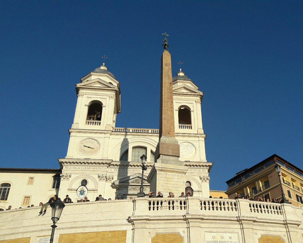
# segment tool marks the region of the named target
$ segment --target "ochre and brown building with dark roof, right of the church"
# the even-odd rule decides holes
[[[274,154],[260,163],[238,172],[233,178],[226,181],[228,198],[282,198],[281,187],[275,164],[281,165],[281,181],[286,199],[292,205],[303,207],[303,171],[287,160]]]

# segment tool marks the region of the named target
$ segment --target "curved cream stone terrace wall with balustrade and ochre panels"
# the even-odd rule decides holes
[[[0,212],[0,242],[37,242],[50,235],[51,210]],[[245,199],[135,198],[67,204],[57,223],[54,243],[300,243],[303,208]],[[115,237],[108,235],[114,234]],[[26,239],[30,238],[30,240]],[[12,241],[11,241],[12,240]],[[162,240],[162,241],[161,241]]]

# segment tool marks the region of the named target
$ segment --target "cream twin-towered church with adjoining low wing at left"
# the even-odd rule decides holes
[[[144,192],[148,194],[147,176],[155,162],[159,129],[115,127],[121,111],[120,83],[104,64],[80,81],[76,84],[78,99],[67,155],[58,159],[60,169],[1,168],[0,210],[8,205],[36,206],[53,194],[61,198],[69,195],[77,202],[81,199],[77,196],[80,185],[86,186],[90,200],[100,194],[106,199],[134,197],[140,190],[143,154],[147,157]],[[209,197],[212,163],[205,156],[203,92],[181,69],[172,81],[175,136],[180,160],[188,166],[184,191]]]

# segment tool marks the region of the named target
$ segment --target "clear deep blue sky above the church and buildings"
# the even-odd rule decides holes
[[[0,167],[58,168],[75,84],[118,79],[117,127],[158,128],[161,33],[199,90],[211,189],[276,153],[302,168],[302,1],[1,1]]]

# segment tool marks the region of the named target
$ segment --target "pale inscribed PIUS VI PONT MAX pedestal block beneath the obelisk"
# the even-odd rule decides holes
[[[147,177],[150,183],[150,191],[158,195],[161,191],[163,197],[168,197],[169,192],[173,192],[175,197],[185,192],[185,173],[188,167],[183,165],[171,165],[165,163],[155,163]]]

